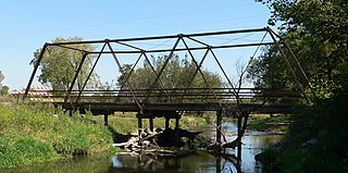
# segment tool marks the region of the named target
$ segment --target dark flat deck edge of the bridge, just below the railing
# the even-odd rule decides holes
[[[77,109],[80,113],[91,111],[92,114],[113,114],[114,112],[139,112],[140,109],[136,103],[104,103],[104,102],[79,102],[63,103],[54,102],[54,104],[62,106],[62,108],[71,110]],[[253,113],[288,113],[291,111],[289,104],[260,104],[256,103],[243,103],[241,108],[246,111]],[[217,103],[217,102],[204,102],[204,103],[147,103],[144,106],[145,111],[220,111],[222,108],[227,111],[238,111],[236,103]]]

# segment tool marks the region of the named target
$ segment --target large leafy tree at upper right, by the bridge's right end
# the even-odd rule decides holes
[[[258,1],[271,8],[270,24],[282,23],[278,27],[281,35],[297,54],[316,92],[322,97],[332,96],[341,87],[338,76],[348,64],[348,1]],[[294,85],[285,79],[287,74],[277,67],[278,62],[282,59],[275,47],[264,49],[249,73],[257,78],[256,85]]]

